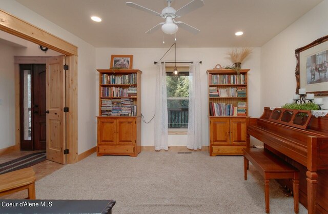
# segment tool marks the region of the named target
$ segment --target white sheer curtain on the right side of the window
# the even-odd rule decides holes
[[[201,149],[201,97],[199,63],[190,64],[189,71],[189,115],[187,148]]]

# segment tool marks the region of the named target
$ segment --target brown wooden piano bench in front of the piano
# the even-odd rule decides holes
[[[244,148],[244,179],[247,180],[249,161],[264,177],[265,212],[270,212],[269,183],[270,179],[292,179],[294,193],[294,211],[298,213],[298,184],[299,171],[289,163],[283,161],[267,149]]]

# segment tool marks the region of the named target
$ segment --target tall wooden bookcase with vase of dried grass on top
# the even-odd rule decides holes
[[[209,152],[216,155],[241,155],[249,147],[247,73],[241,69],[208,70]]]

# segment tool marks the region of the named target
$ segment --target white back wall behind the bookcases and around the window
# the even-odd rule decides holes
[[[169,47],[168,47],[169,48]],[[133,68],[142,71],[141,79],[141,113],[149,121],[155,111],[155,83],[156,65],[168,48],[96,48],[97,69],[108,69],[112,54],[133,55]],[[208,69],[213,69],[216,64],[222,66],[231,65],[226,53],[230,48],[177,48],[177,61],[202,61],[200,65],[201,78],[201,106],[202,106],[202,139],[203,145],[209,145],[209,125],[208,125]],[[163,58],[165,61],[174,61],[174,50],[170,50]],[[249,81],[249,114],[258,117],[261,115],[260,109],[260,49],[254,48],[252,55],[242,64],[242,68],[250,68]],[[99,82],[98,73],[94,71],[94,82]],[[94,96],[98,97],[98,86],[94,87]],[[96,103],[96,108],[98,103]],[[96,127],[94,127],[96,130]],[[141,145],[154,145],[154,121],[141,125]],[[169,135],[170,146],[187,145],[187,135]]]

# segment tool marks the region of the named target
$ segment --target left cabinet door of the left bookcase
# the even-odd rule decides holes
[[[98,118],[98,144],[115,145],[116,144],[116,119]]]

